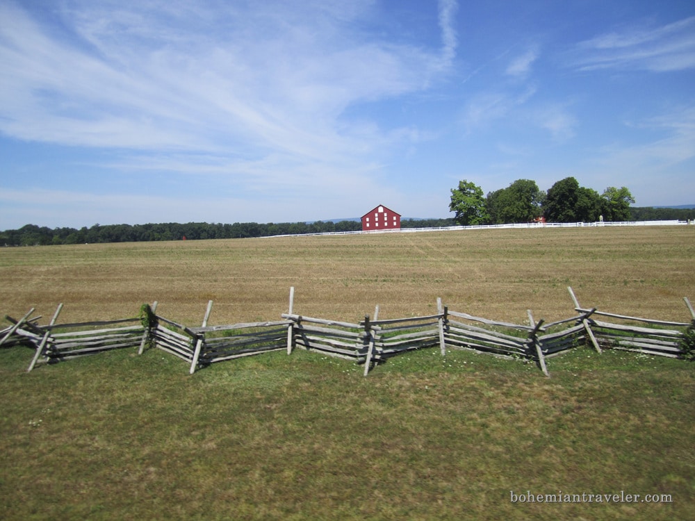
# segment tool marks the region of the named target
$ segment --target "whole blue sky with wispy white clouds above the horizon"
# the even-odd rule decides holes
[[[695,204],[695,3],[0,0],[0,229]]]

